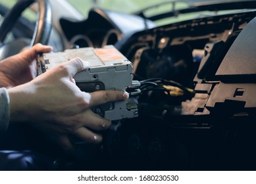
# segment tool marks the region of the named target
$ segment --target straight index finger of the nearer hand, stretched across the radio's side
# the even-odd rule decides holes
[[[90,94],[89,106],[97,106],[99,104],[105,104],[114,101],[125,101],[129,98],[129,94],[126,91],[95,91]],[[88,97],[87,97],[88,98]]]

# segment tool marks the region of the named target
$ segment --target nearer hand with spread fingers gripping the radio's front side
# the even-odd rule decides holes
[[[128,99],[123,91],[86,93],[75,85],[74,75],[86,70],[88,62],[73,58],[41,74],[24,85],[9,89],[11,122],[30,122],[32,126],[53,136],[65,150],[74,147],[69,135],[89,143],[99,143],[101,131],[111,121],[93,113],[91,107]]]

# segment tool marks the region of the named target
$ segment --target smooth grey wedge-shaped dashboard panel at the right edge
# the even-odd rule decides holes
[[[256,79],[256,18],[238,35],[222,60],[216,76],[221,80]]]

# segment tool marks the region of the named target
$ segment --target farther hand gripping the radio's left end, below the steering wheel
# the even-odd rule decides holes
[[[0,62],[0,87],[14,87],[36,77],[36,57],[39,53],[49,53],[52,47],[38,43],[17,55]]]

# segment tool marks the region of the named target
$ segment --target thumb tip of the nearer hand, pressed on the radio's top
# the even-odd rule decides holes
[[[68,70],[68,74],[70,74],[71,77],[74,77],[78,72],[88,69],[90,67],[90,62],[86,62],[85,60],[76,57],[64,62],[63,66]]]

